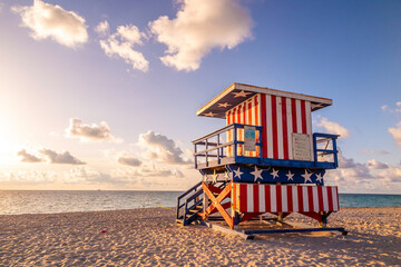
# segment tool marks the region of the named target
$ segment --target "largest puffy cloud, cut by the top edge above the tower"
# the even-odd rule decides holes
[[[160,60],[177,70],[199,68],[213,48],[232,49],[252,37],[250,11],[239,0],[182,0],[175,19],[162,16],[149,22],[157,41],[167,46]]]

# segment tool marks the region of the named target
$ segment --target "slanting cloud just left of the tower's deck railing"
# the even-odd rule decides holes
[[[184,159],[183,150],[172,139],[149,130],[139,135],[139,144],[147,149],[147,156],[160,162],[170,165],[188,165],[190,160]]]

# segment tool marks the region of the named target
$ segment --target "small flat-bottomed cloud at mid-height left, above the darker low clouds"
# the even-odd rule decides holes
[[[123,141],[110,134],[110,127],[106,121],[101,121],[99,126],[96,123],[84,125],[82,120],[78,118],[70,119],[66,135],[70,138],[79,138],[81,141]]]

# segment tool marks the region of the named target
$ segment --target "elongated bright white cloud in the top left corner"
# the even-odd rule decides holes
[[[36,40],[50,38],[66,47],[76,48],[88,41],[85,19],[60,6],[35,0],[32,6],[12,7],[21,16],[22,26],[31,29]]]

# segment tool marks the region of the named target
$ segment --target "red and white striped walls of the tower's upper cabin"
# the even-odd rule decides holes
[[[311,102],[288,97],[257,93],[228,110],[227,125],[233,122],[263,126],[263,158],[294,159],[292,134],[310,135],[312,149],[312,115]],[[238,132],[238,140],[244,140],[243,131]],[[233,139],[228,132],[227,140]],[[232,156],[231,149],[228,156]],[[242,148],[238,155],[243,155]],[[248,155],[244,155],[248,156]],[[251,157],[258,157],[251,152]],[[313,159],[311,159],[313,160]]]

